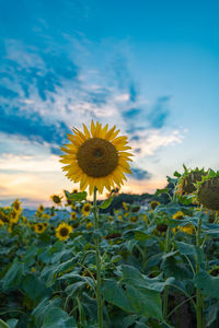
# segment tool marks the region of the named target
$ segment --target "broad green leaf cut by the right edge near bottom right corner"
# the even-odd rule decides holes
[[[219,300],[219,277],[201,271],[194,277],[194,284],[204,295]]]

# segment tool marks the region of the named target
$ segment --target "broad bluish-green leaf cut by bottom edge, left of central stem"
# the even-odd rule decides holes
[[[60,307],[51,307],[44,317],[42,328],[77,328],[76,320]]]

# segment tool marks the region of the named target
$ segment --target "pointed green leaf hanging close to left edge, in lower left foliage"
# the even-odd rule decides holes
[[[3,278],[2,290],[7,291],[20,286],[23,276],[23,263],[18,258],[13,260],[12,266]]]

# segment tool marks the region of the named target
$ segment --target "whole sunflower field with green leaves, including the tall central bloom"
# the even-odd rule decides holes
[[[61,160],[80,191],[33,213],[18,199],[0,209],[0,327],[219,327],[219,172],[184,166],[150,199],[115,207],[126,139],[91,130]]]

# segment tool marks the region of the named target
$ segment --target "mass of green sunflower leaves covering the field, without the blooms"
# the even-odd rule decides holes
[[[20,218],[11,232],[7,223],[1,225],[0,327],[97,328],[94,238],[99,237],[104,328],[174,327],[181,297],[195,327],[196,291],[203,300],[206,327],[216,328],[218,216],[215,213],[210,223],[210,214],[191,204],[188,198],[176,199],[174,188],[181,175],[174,176],[168,177],[166,187],[154,195],[120,194],[99,201],[95,232],[93,213],[81,213],[87,192],[66,191],[69,206],[76,206],[76,220],[70,219],[69,210],[54,209],[50,219],[26,215],[24,223]],[[140,206],[142,200],[148,209]],[[151,200],[160,204],[152,209]],[[173,219],[177,211],[183,212],[183,219]],[[37,222],[48,225],[42,234],[33,230]],[[57,238],[60,222],[73,227],[67,241]],[[92,223],[90,227],[88,223]],[[194,232],[186,233],[187,225]],[[163,313],[166,291],[168,316]]]

